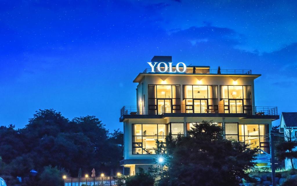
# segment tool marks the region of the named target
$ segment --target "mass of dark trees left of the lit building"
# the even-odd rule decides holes
[[[76,177],[80,168],[83,175],[93,168],[108,175],[111,169],[121,170],[122,154],[123,133],[110,133],[95,116],[69,121],[60,112],[46,109],[37,111],[23,129],[0,127],[0,177],[28,180],[29,171],[35,169],[38,179],[50,173],[61,180],[59,171]]]

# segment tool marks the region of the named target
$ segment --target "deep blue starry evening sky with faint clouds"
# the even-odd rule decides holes
[[[38,109],[122,129],[154,55],[251,69],[256,106],[297,112],[297,1],[0,1],[0,125]],[[279,120],[274,125],[279,124]]]

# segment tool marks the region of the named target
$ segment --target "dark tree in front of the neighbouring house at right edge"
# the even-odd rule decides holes
[[[287,127],[286,132],[284,132],[285,137],[280,139],[276,143],[276,157],[278,160],[283,161],[285,159],[290,159],[292,169],[296,168],[293,159],[297,158],[297,151],[294,150],[297,146],[297,138],[292,134],[292,127]]]

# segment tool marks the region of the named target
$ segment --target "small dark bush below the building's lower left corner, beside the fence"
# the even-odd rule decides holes
[[[126,186],[153,186],[155,178],[150,173],[145,172],[143,168],[139,168],[139,172],[134,176],[126,178]]]

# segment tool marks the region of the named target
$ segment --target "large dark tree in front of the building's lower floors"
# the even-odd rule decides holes
[[[248,179],[257,149],[223,139],[222,127],[203,121],[188,136],[168,138],[165,170],[159,185],[238,186]]]

